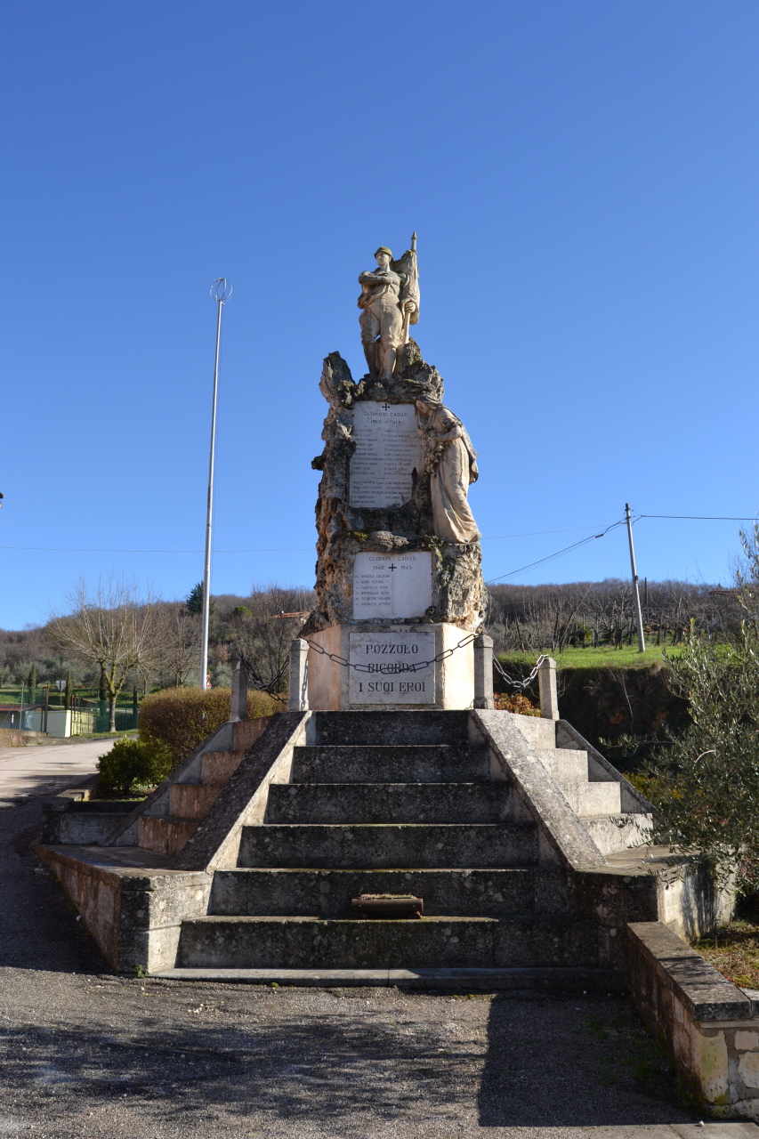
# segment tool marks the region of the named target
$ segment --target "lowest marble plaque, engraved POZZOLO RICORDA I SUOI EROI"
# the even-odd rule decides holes
[[[430,630],[398,629],[387,633],[349,633],[351,704],[434,704],[435,634]]]

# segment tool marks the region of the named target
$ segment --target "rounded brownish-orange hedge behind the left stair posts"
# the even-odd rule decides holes
[[[176,767],[229,720],[230,703],[229,688],[165,688],[153,693],[140,704],[140,743],[163,745]],[[280,711],[281,704],[267,693],[247,694],[251,720]]]

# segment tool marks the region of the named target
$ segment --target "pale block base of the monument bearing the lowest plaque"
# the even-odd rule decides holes
[[[467,636],[466,630],[452,624],[386,621],[330,625],[310,633],[309,641],[326,653],[367,667],[366,671],[346,667],[309,648],[309,708],[323,712],[471,708],[474,705],[472,642],[444,661],[425,665]]]

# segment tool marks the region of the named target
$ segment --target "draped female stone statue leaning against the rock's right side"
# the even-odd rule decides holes
[[[430,475],[432,521],[444,542],[478,542],[480,531],[466,500],[478,480],[478,452],[466,427],[433,395],[415,400],[416,427]]]

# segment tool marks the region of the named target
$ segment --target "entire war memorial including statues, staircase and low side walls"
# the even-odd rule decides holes
[[[757,994],[676,936],[729,892],[687,861],[662,875],[651,805],[561,719],[553,662],[533,715],[493,708],[476,453],[409,335],[415,241],[375,257],[368,371],[333,353],[321,374],[317,603],[287,711],[248,720],[238,664],[230,719],[161,786],[116,813],[57,796],[38,853],[119,973],[627,986],[700,1101],[756,1117]]]

